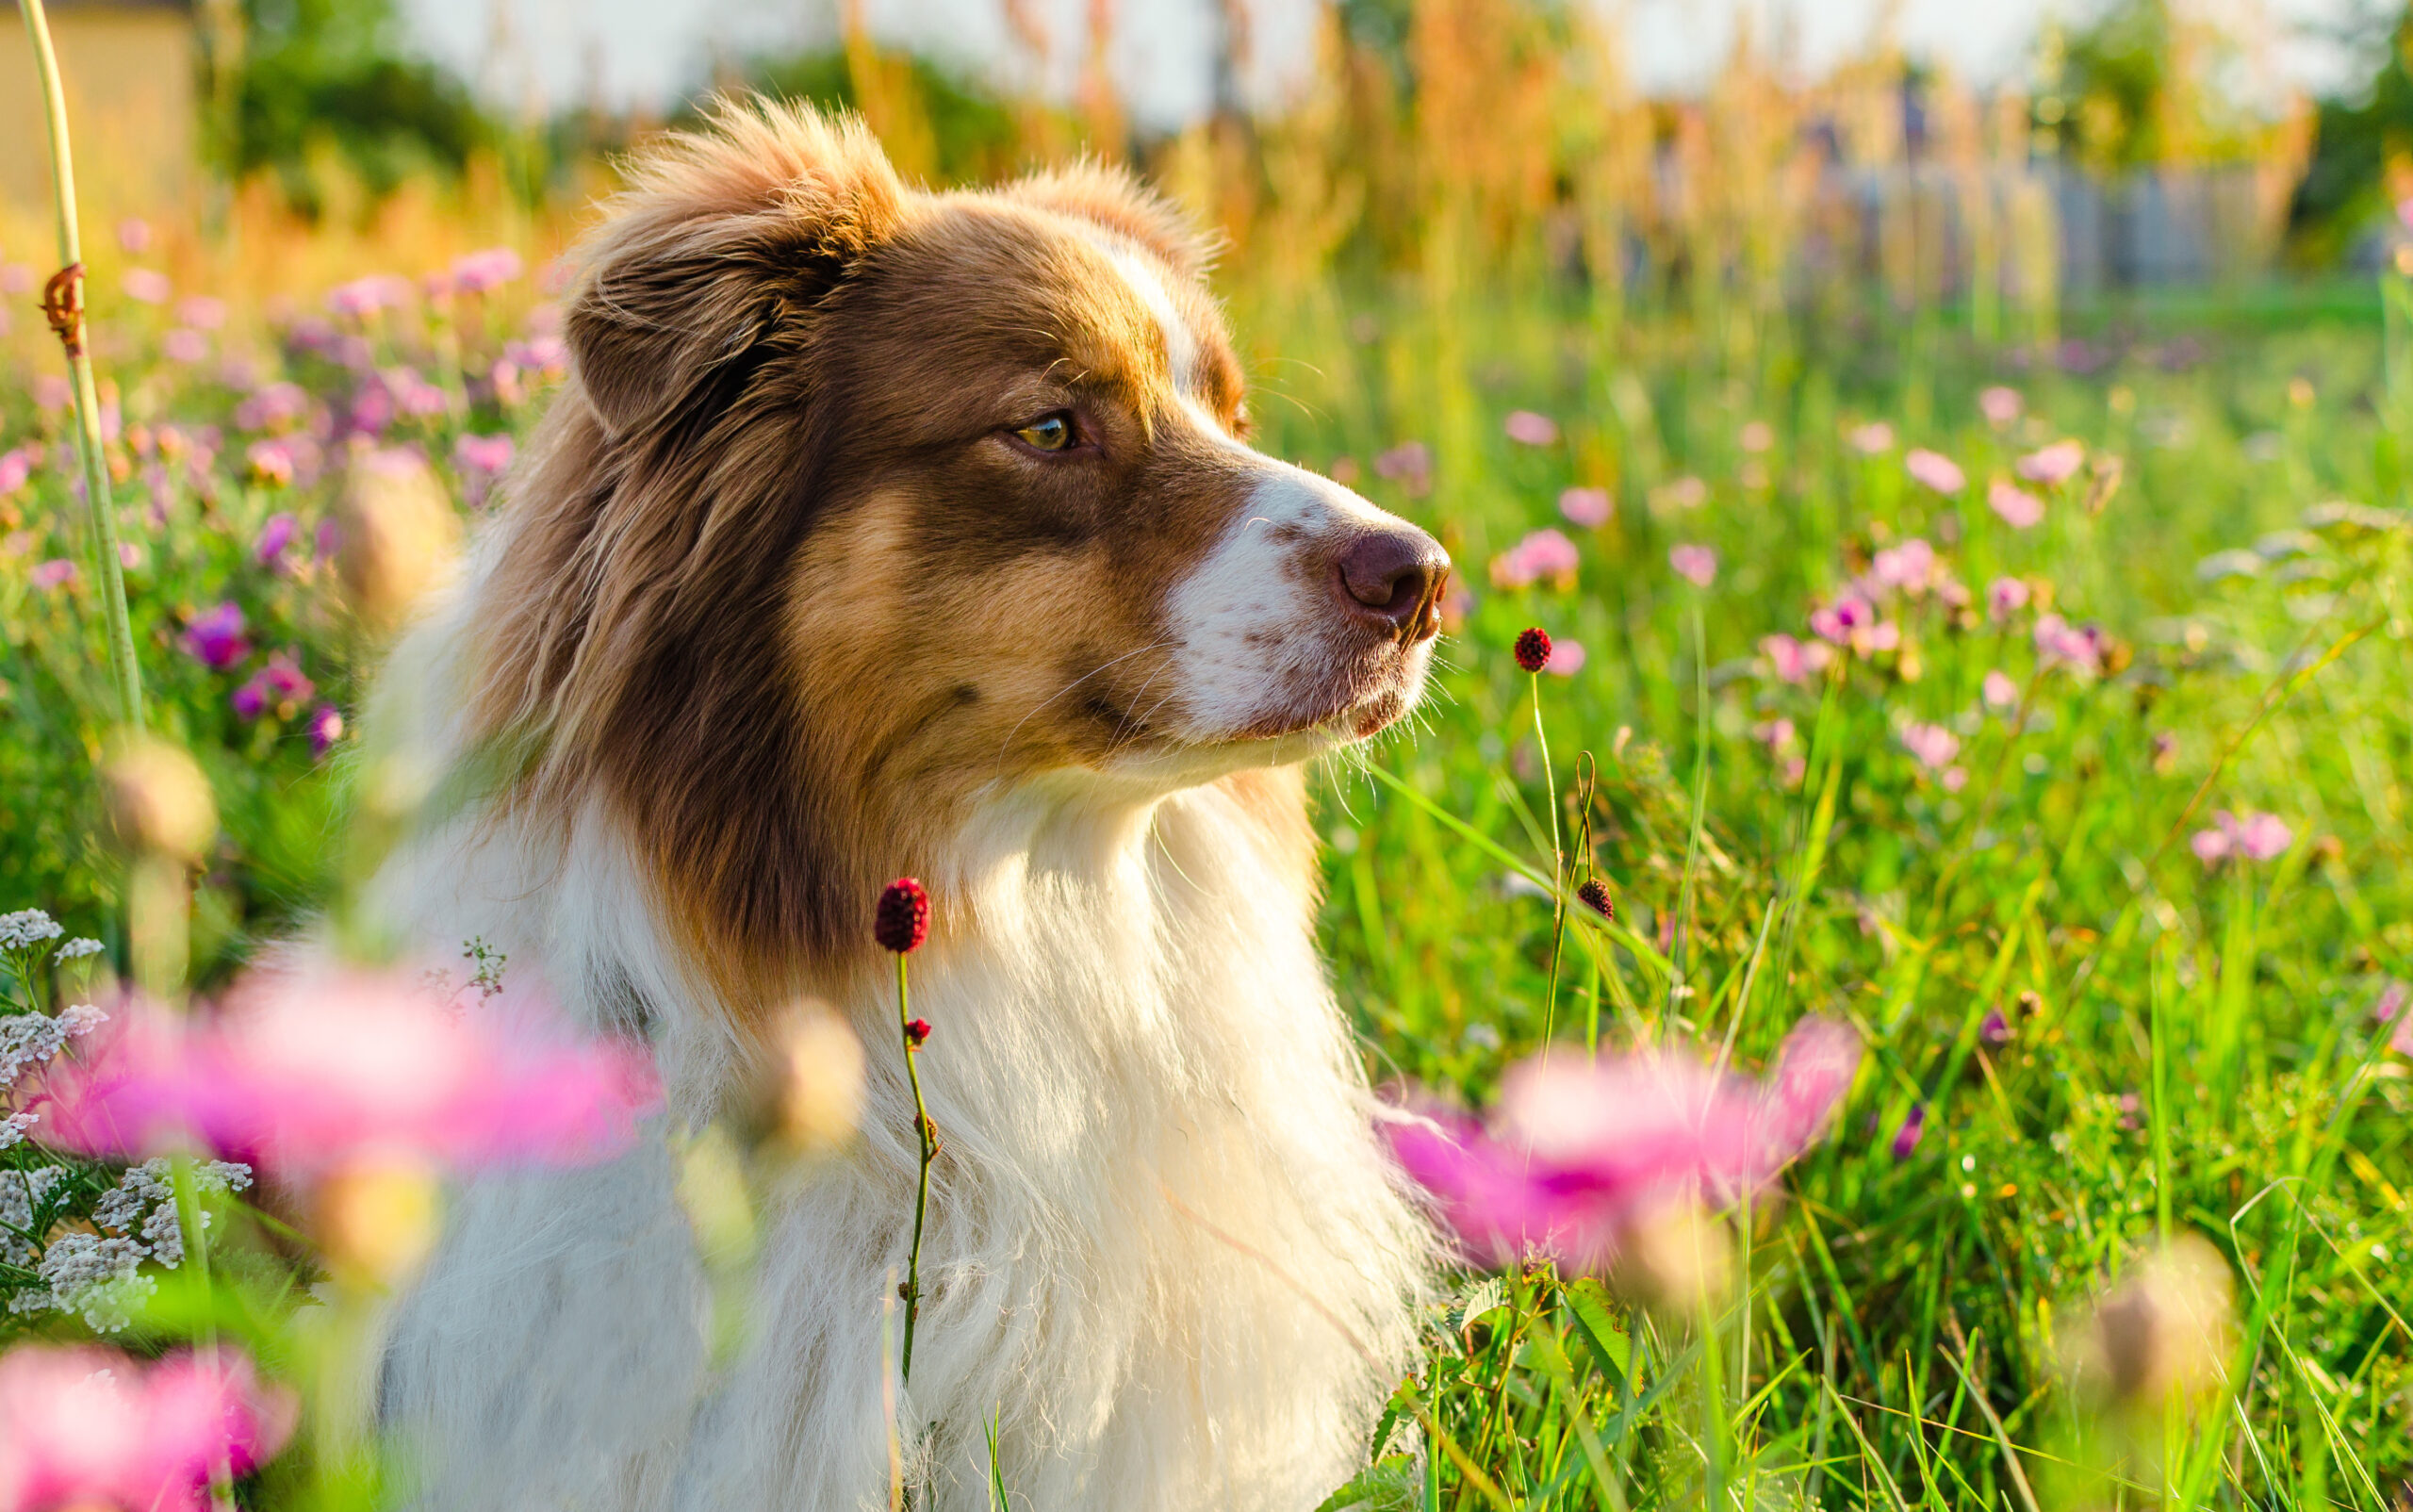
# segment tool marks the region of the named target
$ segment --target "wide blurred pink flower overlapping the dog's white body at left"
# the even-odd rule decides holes
[[[253,974],[215,1015],[133,1003],[116,1020],[51,1078],[63,1148],[138,1158],[198,1138],[302,1179],[372,1153],[584,1165],[627,1150],[661,1102],[637,1047],[569,1039],[512,994],[446,1003],[403,974]]]

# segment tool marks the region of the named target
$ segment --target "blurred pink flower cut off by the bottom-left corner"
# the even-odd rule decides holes
[[[0,1355],[0,1512],[142,1507],[198,1512],[220,1464],[244,1476],[285,1447],[294,1403],[251,1360],[157,1362],[99,1348]]]

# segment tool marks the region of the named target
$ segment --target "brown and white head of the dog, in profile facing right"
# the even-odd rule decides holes
[[[741,933],[830,943],[866,899],[820,892],[982,793],[1296,762],[1421,692],[1448,557],[1248,446],[1199,246],[1120,174],[929,195],[731,109],[639,162],[567,330],[483,709]]]

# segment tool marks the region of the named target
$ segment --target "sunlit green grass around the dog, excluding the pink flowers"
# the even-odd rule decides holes
[[[408,246],[425,268],[398,270],[437,265]],[[338,272],[372,268],[347,256]],[[2104,359],[2073,376],[1969,342],[1950,309],[1503,285],[1245,260],[1226,282],[1262,444],[1431,526],[1472,586],[1416,728],[1322,779],[1322,938],[1368,1066],[1482,1107],[1544,1035],[1757,1068],[1805,1013],[1853,1022],[1868,1061],[1781,1199],[1728,1220],[1740,1280],[1711,1302],[1641,1307],[1547,1264],[1455,1278],[1368,1471],[1330,1505],[2403,1505],[2413,1097],[2372,1010],[2413,979],[2413,540],[2386,514],[2413,444],[2406,287],[2073,318]],[[480,381],[533,304],[521,282],[338,335],[379,367],[471,374],[391,432],[466,487],[456,436],[541,408]],[[215,362],[162,354],[166,309],[94,311],[154,728],[198,752],[224,815],[195,914],[195,962],[222,974],[340,875],[347,769],[311,757],[302,721],[352,707],[362,654],[306,547],[287,572],[253,557],[280,511],[306,540],[331,485],[309,465],[292,487],[246,475],[241,393]],[[360,388],[294,333],[236,299],[212,342],[316,405]],[[46,461],[0,499],[0,907],[39,902],[118,945],[116,873],[89,839],[111,707],[92,572],[70,588],[29,572],[87,557],[63,420],[31,393],[55,354],[12,340],[0,449]],[[2025,415],[1988,424],[1986,383],[2017,386]],[[1559,441],[1511,441],[1515,408],[1552,415]],[[1880,420],[1897,441],[1856,451]],[[2087,509],[2082,473],[2010,528],[1988,485],[2061,436],[2121,458],[2116,492]],[[1431,449],[1428,485],[1375,468],[1404,441]],[[1914,482],[1906,446],[1952,456],[1969,490]],[[1609,523],[1559,518],[1573,485],[1614,494]],[[2379,514],[2319,514],[2336,499]],[[1489,562],[1544,526],[1573,535],[1573,581],[1491,586]],[[1761,637],[1807,637],[1815,603],[1911,538],[1974,613],[1904,603],[1899,649],[1774,678]],[[1679,543],[1718,552],[1711,586],[1670,569]],[[1998,576],[2037,596],[2010,625],[1986,615]],[[2104,629],[2104,675],[2039,666],[2046,596]],[[256,651],[210,670],[179,637],[227,600]],[[1535,685],[1508,651],[1527,625],[1578,641],[1583,668]],[[244,719],[229,697],[273,646],[319,692]],[[1996,670],[2008,709],[1983,699]],[[1776,721],[1793,743],[1771,748]],[[1906,750],[1909,721],[1959,740],[1957,779]],[[2215,810],[2273,813],[2292,844],[2205,866],[2191,839]],[[1556,948],[1554,849],[1617,899],[1614,924],[1566,909]],[[2008,1037],[1986,1035],[1991,1010]],[[2094,1300],[2179,1235],[2232,1278],[2225,1384],[2121,1408],[2087,1360]],[[328,1464],[328,1483],[357,1473]]]

